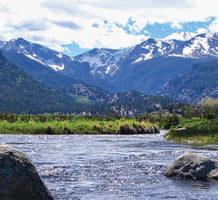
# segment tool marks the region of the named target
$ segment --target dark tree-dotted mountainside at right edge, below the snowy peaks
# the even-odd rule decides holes
[[[218,60],[193,65],[166,83],[159,94],[189,103],[197,103],[206,96],[218,98]]]

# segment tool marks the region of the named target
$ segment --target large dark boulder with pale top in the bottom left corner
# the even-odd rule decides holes
[[[0,199],[54,200],[31,160],[22,152],[0,143]]]

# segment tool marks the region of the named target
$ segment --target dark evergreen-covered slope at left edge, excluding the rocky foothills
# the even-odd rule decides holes
[[[74,98],[34,80],[0,53],[0,112],[67,112],[73,111],[76,103]]]

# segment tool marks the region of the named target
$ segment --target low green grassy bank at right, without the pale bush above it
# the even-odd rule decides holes
[[[209,119],[181,118],[179,128],[172,128],[166,134],[167,140],[191,145],[218,145],[218,121]]]

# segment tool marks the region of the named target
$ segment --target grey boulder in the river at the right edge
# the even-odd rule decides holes
[[[178,157],[167,169],[165,176],[176,179],[218,180],[218,161],[188,153]]]

